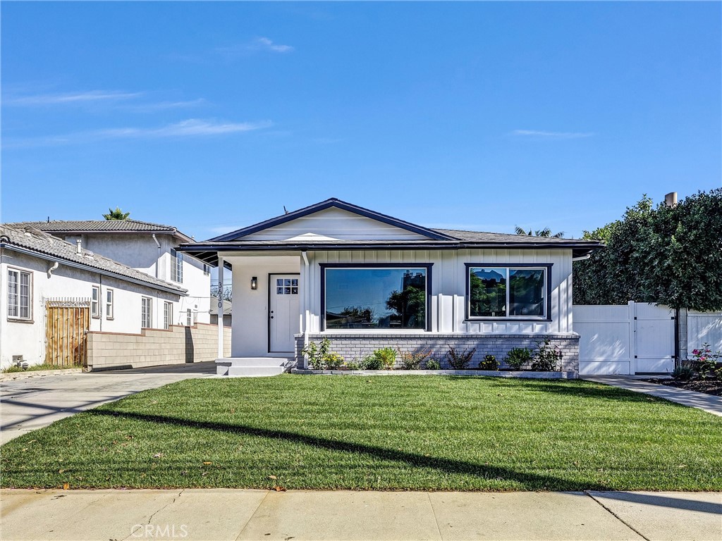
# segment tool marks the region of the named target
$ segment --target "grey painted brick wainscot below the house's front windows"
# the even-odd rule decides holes
[[[323,338],[331,340],[331,351],[338,353],[345,361],[360,361],[378,348],[394,348],[399,351],[431,351],[429,359],[439,361],[442,369],[451,369],[445,359],[449,346],[457,351],[469,351],[476,348],[469,363],[477,368],[479,361],[486,355],[496,356],[499,364],[505,368],[504,358],[512,348],[529,348],[534,353],[536,342],[549,338],[551,346],[559,346],[562,351],[562,370],[579,371],[579,335],[576,334],[310,334],[308,339],[320,343]],[[296,364],[303,367],[303,335],[296,335]]]

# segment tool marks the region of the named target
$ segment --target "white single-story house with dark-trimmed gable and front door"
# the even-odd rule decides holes
[[[376,348],[449,346],[502,360],[547,337],[578,369],[572,261],[600,243],[430,229],[331,198],[205,242],[182,244],[232,268],[233,358],[305,363],[329,338],[347,361]]]

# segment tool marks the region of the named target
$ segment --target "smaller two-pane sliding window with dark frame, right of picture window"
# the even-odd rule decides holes
[[[551,264],[466,264],[469,319],[549,319]]]

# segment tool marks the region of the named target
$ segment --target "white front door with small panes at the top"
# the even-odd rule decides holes
[[[269,353],[293,351],[300,333],[297,274],[271,274],[269,279]]]

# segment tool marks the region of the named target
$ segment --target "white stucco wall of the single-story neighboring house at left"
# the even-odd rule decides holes
[[[12,356],[22,355],[30,364],[45,361],[45,301],[65,297],[92,298],[92,286],[100,286],[100,317],[90,317],[90,330],[112,333],[139,333],[141,298],[153,299],[153,327],[163,327],[163,302],[173,302],[174,313],[181,307],[181,297],[119,278],[102,276],[93,271],[72,268],[60,263],[48,277],[53,262],[12,250],[0,254],[0,367],[12,364]],[[7,317],[8,268],[32,273],[31,320]],[[105,292],[113,289],[113,319],[105,317]]]

